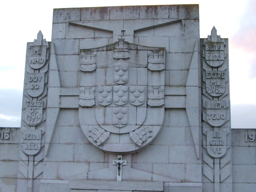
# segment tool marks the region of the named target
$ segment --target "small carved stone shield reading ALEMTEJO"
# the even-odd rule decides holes
[[[206,101],[206,119],[207,122],[214,126],[222,126],[226,122],[226,108],[225,100]]]

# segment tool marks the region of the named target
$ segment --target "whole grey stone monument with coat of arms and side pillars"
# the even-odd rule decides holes
[[[21,127],[0,128],[0,191],[254,192],[255,130],[231,130],[228,39],[209,34],[198,5],[54,9]]]

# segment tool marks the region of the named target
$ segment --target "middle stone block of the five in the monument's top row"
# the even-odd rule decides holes
[[[110,19],[138,19],[140,16],[139,6],[130,7],[111,7]]]

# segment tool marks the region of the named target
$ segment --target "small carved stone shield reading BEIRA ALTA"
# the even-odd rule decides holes
[[[27,155],[35,155],[41,148],[41,130],[23,130],[22,147]]]

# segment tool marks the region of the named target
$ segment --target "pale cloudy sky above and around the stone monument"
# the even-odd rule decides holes
[[[24,0],[0,3],[0,127],[20,127],[26,44],[39,30],[51,41],[54,8],[154,5],[152,0]],[[229,39],[232,128],[256,128],[256,0],[162,0],[157,4],[199,4],[200,38],[212,27]]]

